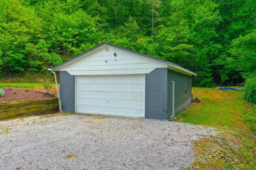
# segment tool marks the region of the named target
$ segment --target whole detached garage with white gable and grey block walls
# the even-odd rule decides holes
[[[191,105],[191,72],[109,43],[52,68],[60,71],[62,110],[172,119]]]

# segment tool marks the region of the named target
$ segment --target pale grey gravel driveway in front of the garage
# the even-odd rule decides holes
[[[41,115],[0,121],[1,170],[180,170],[188,141],[211,127],[102,115]]]

